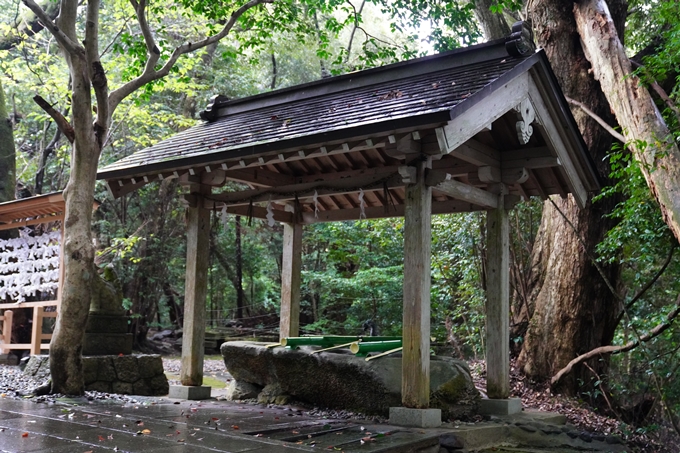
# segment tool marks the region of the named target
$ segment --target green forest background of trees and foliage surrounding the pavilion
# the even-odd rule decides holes
[[[634,62],[636,83],[654,94],[676,141],[680,7],[674,0],[606,3]],[[99,57],[112,87],[144,71],[147,48],[130,6],[139,4],[112,1],[99,8]],[[13,197],[15,180],[19,195],[62,190],[71,175],[69,137],[34,97],[69,118],[68,67],[54,36],[41,32],[40,21],[20,2],[0,0],[0,5],[0,83],[6,95],[0,109],[7,108],[0,117],[9,119],[0,125],[9,129],[0,129],[5,134],[0,199]],[[55,18],[59,5],[42,6]],[[680,331],[672,322],[680,292],[677,239],[650,192],[648,169],[628,150],[646,144],[638,139],[630,146],[632,139],[621,137],[627,131],[618,128],[613,107],[593,79],[572,2],[290,0],[276,5],[242,16],[226,38],[183,55],[168,76],[122,100],[100,166],[197,124],[198,112],[215,94],[239,98],[449,50],[505,36],[514,20],[532,20],[536,41],[546,48],[565,94],[576,100],[574,115],[606,187],[584,210],[557,198],[531,200],[512,211],[513,354],[529,377],[549,381],[580,354],[630,345],[626,353],[588,357],[555,380],[555,390],[588,400],[631,429],[658,428],[633,415],[651,408],[652,420],[678,431]],[[218,30],[231,14],[229,5],[188,0],[154,1],[145,8],[165,57],[206,27]],[[85,8],[77,14],[86,14]],[[619,132],[595,123],[583,107]],[[150,328],[181,327],[182,188],[166,180],[115,201],[103,184],[95,190],[102,201],[92,224],[95,260],[117,271],[131,332],[136,346],[144,348]],[[457,355],[483,358],[485,216],[435,216],[432,222],[432,336],[454,345]],[[363,321],[372,319],[383,334],[400,334],[402,228],[402,219],[305,227],[305,333],[357,334]],[[257,219],[231,216],[223,223],[214,216],[210,326],[232,320],[260,329],[278,325],[281,231]],[[640,341],[645,335],[652,338]]]

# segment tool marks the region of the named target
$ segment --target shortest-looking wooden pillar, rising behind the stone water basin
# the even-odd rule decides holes
[[[281,323],[279,338],[300,335],[300,283],[302,281],[302,225],[283,224],[281,260]]]

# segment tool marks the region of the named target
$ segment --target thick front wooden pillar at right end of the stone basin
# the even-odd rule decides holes
[[[432,189],[425,185],[430,159],[416,165],[406,185],[404,212],[404,322],[401,401],[430,405],[430,248]]]

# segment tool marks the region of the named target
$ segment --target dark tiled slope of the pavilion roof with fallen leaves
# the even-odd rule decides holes
[[[477,52],[484,52],[483,46]],[[487,46],[489,47],[489,46]],[[455,58],[451,67],[441,69],[440,56],[395,65],[393,78],[389,67],[380,68],[382,76],[369,81],[361,80],[362,73],[341,76],[338,83],[344,88],[315,95],[305,85],[246,98],[219,106],[218,118],[180,132],[154,146],[138,151],[110,164],[99,171],[100,179],[152,174],[193,164],[221,162],[231,158],[261,155],[340,139],[344,131],[370,127],[381,132],[396,129],[395,124],[408,120],[418,126],[445,122],[450,110],[473,97],[485,86],[512,70],[523,58],[514,58],[491,52],[491,59],[465,64]],[[454,57],[461,60],[457,52]],[[500,54],[502,55],[502,54]],[[488,57],[487,57],[488,58]],[[473,60],[474,61],[474,60]],[[420,68],[413,70],[420,65]],[[430,67],[436,70],[429,70]],[[406,74],[406,76],[404,76]],[[387,80],[385,80],[387,79]],[[356,80],[356,83],[354,82]],[[332,79],[313,83],[316,88],[331,85]],[[354,86],[356,85],[356,86]],[[313,91],[313,90],[312,90]],[[317,90],[318,91],[318,90]],[[300,95],[302,93],[302,95]],[[267,102],[267,97],[272,99]],[[302,97],[302,99],[300,99]],[[250,105],[256,105],[249,109]],[[293,100],[289,100],[293,99]],[[236,104],[229,113],[229,104]],[[355,131],[353,131],[355,132]],[[347,134],[348,137],[356,135]],[[317,139],[315,139],[317,138]]]

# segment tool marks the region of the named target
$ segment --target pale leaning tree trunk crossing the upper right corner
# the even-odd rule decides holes
[[[680,150],[649,91],[630,76],[630,60],[607,3],[603,0],[574,3],[574,16],[593,75],[631,142],[633,155],[659,202],[664,221],[680,240]]]

